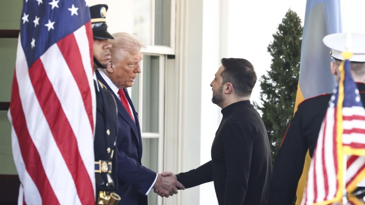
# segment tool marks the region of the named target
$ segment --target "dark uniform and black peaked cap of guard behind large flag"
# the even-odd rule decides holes
[[[90,7],[94,39],[113,39],[107,31],[105,15],[108,6],[98,4]],[[94,57],[96,68],[105,68]],[[96,69],[94,68],[94,69]],[[115,205],[120,197],[116,194],[118,180],[116,172],[116,138],[118,136],[118,118],[116,102],[105,85],[96,80],[96,125],[94,139],[96,204]]]

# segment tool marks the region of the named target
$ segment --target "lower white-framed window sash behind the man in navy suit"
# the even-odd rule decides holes
[[[163,169],[164,148],[164,65],[165,55],[143,55],[142,72],[131,88],[131,98],[138,111],[142,131],[142,165],[160,173]],[[148,194],[150,205],[162,205],[162,198]]]

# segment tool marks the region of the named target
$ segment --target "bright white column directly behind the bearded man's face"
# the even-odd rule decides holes
[[[221,18],[221,0],[203,1],[203,49],[201,66],[201,130],[200,130],[200,165],[211,160],[211,146],[219,126],[221,114],[218,105],[212,103],[211,81],[218,70],[221,59],[221,36],[226,33]],[[226,3],[227,1],[224,1]],[[223,6],[224,8],[224,6]],[[223,28],[223,30],[222,30]],[[200,204],[218,204],[213,182],[200,185]]]

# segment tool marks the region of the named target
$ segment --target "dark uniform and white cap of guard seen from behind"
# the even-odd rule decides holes
[[[341,52],[346,50],[346,34],[327,35],[323,42],[332,49],[331,54],[334,59],[343,60]],[[350,59],[351,63],[365,63],[365,34],[353,35],[353,42],[355,52],[351,51],[354,53]],[[365,102],[364,82],[357,82],[357,87],[362,102]],[[330,98],[331,94],[322,94],[299,104],[275,158],[268,205],[292,204],[303,172],[307,150],[312,157]],[[364,190],[365,187],[362,186],[365,185],[358,184],[358,190]]]

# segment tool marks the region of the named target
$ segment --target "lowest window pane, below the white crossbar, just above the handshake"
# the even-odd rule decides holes
[[[142,138],[142,165],[158,173],[158,138]],[[149,205],[157,205],[158,195],[150,191],[147,195]]]

